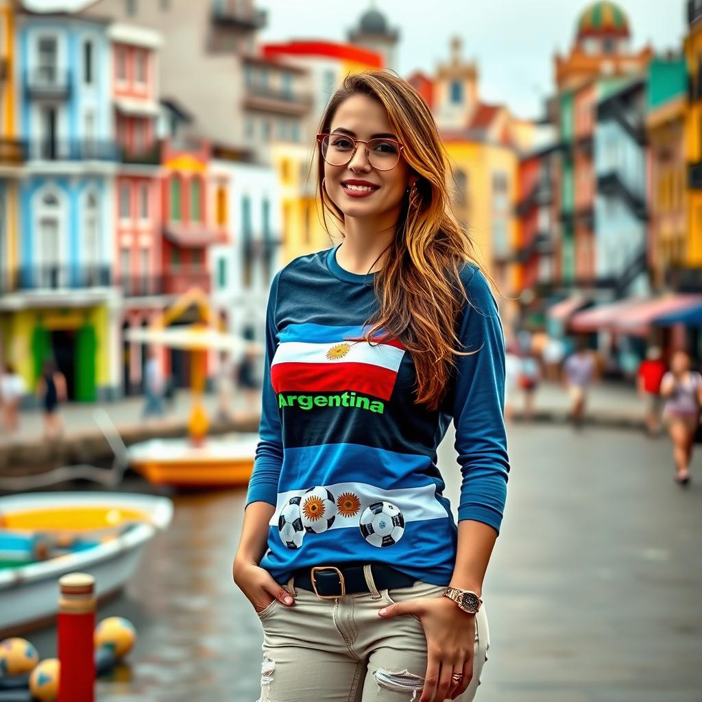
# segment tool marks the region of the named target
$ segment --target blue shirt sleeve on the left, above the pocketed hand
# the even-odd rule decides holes
[[[278,298],[277,272],[270,286],[266,309],[265,362],[263,366],[263,388],[261,395],[261,418],[258,425],[258,446],[253,461],[253,472],[246,493],[246,505],[263,501],[275,505],[278,496],[278,479],[283,464],[283,439],[280,413],[273,386],[270,383],[270,364],[278,345],[275,324],[275,309]]]

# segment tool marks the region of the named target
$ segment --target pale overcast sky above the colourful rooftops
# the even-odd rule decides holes
[[[687,27],[684,0],[617,0],[629,18],[632,48],[651,44],[656,51],[682,48]],[[541,117],[552,94],[553,56],[566,53],[576,22],[588,0],[375,0],[399,29],[397,72],[432,73],[449,56],[454,34],[463,39],[463,57],[479,69],[479,95],[507,105],[517,116]],[[371,0],[256,0],[267,10],[260,40],[327,39],[347,41]],[[423,11],[425,6],[431,12]]]

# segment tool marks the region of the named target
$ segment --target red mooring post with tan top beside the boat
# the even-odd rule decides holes
[[[57,702],[93,702],[95,698],[95,578],[69,573],[58,581],[58,658],[61,662]]]

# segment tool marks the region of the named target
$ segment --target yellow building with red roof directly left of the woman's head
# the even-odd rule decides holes
[[[282,186],[282,263],[305,253],[327,249],[329,234],[322,225],[317,194],[317,141],[315,135],[329,98],[348,74],[383,67],[380,54],[357,46],[331,41],[291,41],[267,44],[270,58],[304,67],[312,82],[312,110],[300,143],[278,143],[272,149],[273,162]],[[327,217],[334,235],[336,220]]]

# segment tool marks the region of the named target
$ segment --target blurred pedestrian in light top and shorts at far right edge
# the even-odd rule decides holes
[[[670,361],[670,371],[661,380],[661,395],[665,398],[663,417],[673,441],[675,482],[690,482],[690,460],[695,432],[702,407],[702,376],[690,369],[690,357],[676,351]]]

